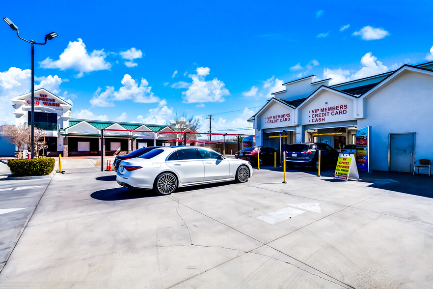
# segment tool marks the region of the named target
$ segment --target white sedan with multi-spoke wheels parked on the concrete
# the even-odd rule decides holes
[[[251,175],[247,161],[228,159],[199,146],[167,146],[122,161],[116,180],[129,189],[154,189],[169,195],[184,186],[230,180],[243,183]]]

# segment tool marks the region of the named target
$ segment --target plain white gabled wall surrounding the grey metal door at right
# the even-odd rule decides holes
[[[373,170],[388,170],[388,134],[415,134],[415,159],[433,159],[433,77],[414,72],[397,76],[392,83],[366,96],[365,118],[358,129],[372,126]]]

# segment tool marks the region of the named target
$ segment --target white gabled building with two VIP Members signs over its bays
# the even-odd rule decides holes
[[[284,83],[248,119],[257,145],[278,148],[281,136],[283,149],[300,142],[338,149],[369,128],[371,170],[411,172],[415,160],[433,159],[433,61],[332,86],[314,80]]]

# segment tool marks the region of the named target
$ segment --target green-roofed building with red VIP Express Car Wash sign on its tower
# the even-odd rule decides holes
[[[35,90],[34,100],[34,126],[44,130],[48,156],[100,156],[101,152],[122,155],[145,146],[178,145],[183,132],[189,131],[186,128],[180,132],[175,126],[158,124],[71,118],[72,103],[44,88]],[[31,94],[13,98],[12,102],[15,125],[31,125]],[[104,140],[101,143],[102,129]],[[196,139],[197,135],[189,137],[190,141]]]

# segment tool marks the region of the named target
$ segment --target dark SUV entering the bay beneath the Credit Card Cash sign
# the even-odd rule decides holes
[[[309,166],[319,169],[319,150],[321,165],[335,165],[339,152],[325,143],[300,143],[286,147],[286,165]]]

